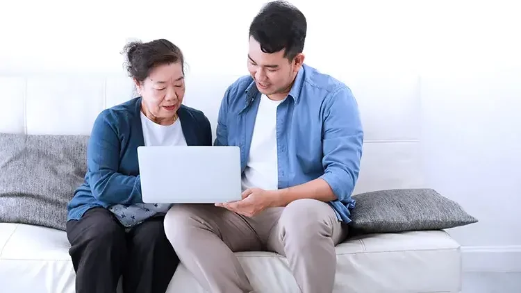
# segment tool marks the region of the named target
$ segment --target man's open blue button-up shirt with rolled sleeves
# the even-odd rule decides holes
[[[240,147],[242,171],[260,99],[253,78],[243,76],[228,87],[221,102],[214,144]],[[363,144],[358,105],[349,87],[304,65],[276,115],[279,188],[322,178],[337,197],[329,204],[338,219],[349,223]]]

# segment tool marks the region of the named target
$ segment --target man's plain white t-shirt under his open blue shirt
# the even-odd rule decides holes
[[[276,152],[276,109],[283,102],[272,101],[264,94],[258,105],[254,133],[244,173],[242,190],[258,187],[279,189],[279,164]]]

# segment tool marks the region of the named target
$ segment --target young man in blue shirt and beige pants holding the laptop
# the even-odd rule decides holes
[[[165,231],[208,292],[253,292],[235,251],[288,258],[304,293],[331,292],[363,130],[349,88],[304,65],[306,18],[268,3],[249,28],[248,69],[226,91],[217,146],[239,146],[242,201],[176,205]]]

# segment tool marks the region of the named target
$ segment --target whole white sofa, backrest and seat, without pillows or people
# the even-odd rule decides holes
[[[187,76],[185,103],[215,131],[217,109],[236,76]],[[418,76],[345,77],[361,108],[365,146],[355,193],[425,187]],[[104,108],[133,97],[126,76],[0,76],[0,133],[88,135]],[[0,146],[2,147],[2,146]],[[65,217],[65,216],[64,216]],[[74,292],[64,231],[0,223],[0,292]],[[286,259],[237,253],[258,292],[298,292]],[[461,251],[445,231],[349,237],[337,247],[334,292],[461,292]],[[168,293],[204,292],[181,264]]]

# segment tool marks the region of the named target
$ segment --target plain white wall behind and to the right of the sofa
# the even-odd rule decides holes
[[[165,37],[185,53],[188,84],[242,75],[264,1],[76,2],[2,1],[0,74],[118,74],[126,40]],[[509,2],[474,2],[292,1],[310,65],[346,82],[420,76],[424,183],[480,220],[450,231],[465,268],[521,270],[521,20]]]

